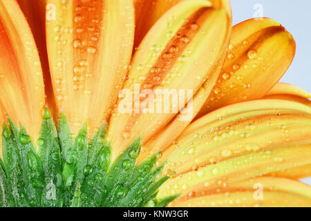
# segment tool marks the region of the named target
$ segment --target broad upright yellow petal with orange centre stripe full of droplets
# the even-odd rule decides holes
[[[48,59],[58,111],[74,134],[88,122],[89,138],[106,120],[122,88],[131,59],[133,2],[58,1],[46,18]]]

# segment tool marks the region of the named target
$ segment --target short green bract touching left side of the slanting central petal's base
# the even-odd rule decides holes
[[[87,165],[84,168],[85,179],[82,183],[82,206],[98,207],[102,205],[105,195],[106,174],[111,161],[110,144],[106,144],[104,148],[97,154],[97,160],[93,166]]]

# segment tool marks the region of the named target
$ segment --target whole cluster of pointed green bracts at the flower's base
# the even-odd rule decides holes
[[[73,140],[65,115],[57,132],[44,110],[35,151],[26,129],[9,119],[3,124],[0,158],[0,206],[166,206],[178,197],[156,199],[169,177],[159,177],[159,154],[136,164],[138,137],[111,162],[111,147],[102,124],[88,143],[84,124]]]

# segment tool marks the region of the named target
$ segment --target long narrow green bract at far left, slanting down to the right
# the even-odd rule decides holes
[[[10,183],[15,206],[30,206],[21,174],[21,167],[19,165],[17,144],[6,124],[3,124],[2,129],[2,153],[4,168],[8,177],[8,182]]]

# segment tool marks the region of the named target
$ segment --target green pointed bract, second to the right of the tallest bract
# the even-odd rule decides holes
[[[65,206],[70,206],[77,182],[84,179],[84,167],[88,160],[88,133],[84,124],[80,129],[72,146],[66,152],[66,159],[63,164],[63,183],[65,189]]]

